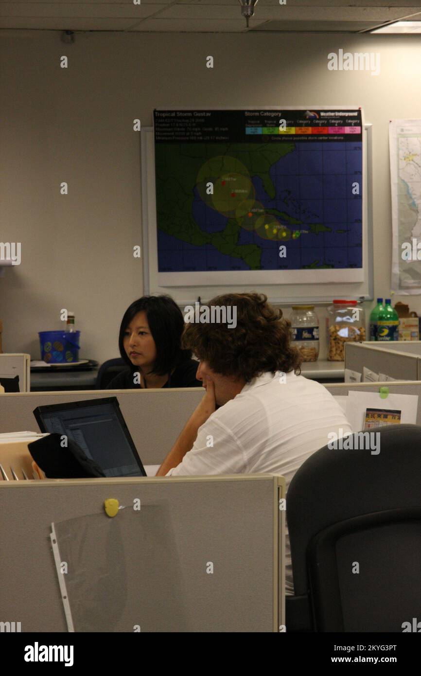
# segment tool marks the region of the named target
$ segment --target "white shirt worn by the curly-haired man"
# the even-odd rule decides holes
[[[166,476],[275,473],[288,490],[299,466],[332,432],[343,436],[351,427],[323,385],[292,371],[286,377],[266,372],[209,416],[192,450]],[[288,533],[285,553],[286,593],[293,594]]]

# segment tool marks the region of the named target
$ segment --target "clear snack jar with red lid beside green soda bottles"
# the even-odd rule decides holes
[[[328,316],[328,360],[345,360],[345,343],[366,340],[366,319],[364,310],[357,307],[356,300],[334,300],[327,308]]]

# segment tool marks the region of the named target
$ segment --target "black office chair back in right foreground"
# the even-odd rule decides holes
[[[371,432],[379,454],[325,446],[289,485],[287,631],[401,632],[421,621],[421,427]]]

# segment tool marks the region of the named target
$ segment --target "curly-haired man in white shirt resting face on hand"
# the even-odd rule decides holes
[[[199,359],[196,378],[206,393],[157,476],[278,473],[288,490],[329,433],[351,432],[349,422],[323,385],[299,375],[291,324],[266,295],[228,293],[208,306],[207,317],[220,316],[212,308],[235,309],[237,324],[199,319],[184,328],[182,347]],[[286,566],[293,594],[288,536]]]

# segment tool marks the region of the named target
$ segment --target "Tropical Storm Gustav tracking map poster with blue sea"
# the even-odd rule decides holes
[[[154,122],[159,272],[362,268],[361,111]]]

